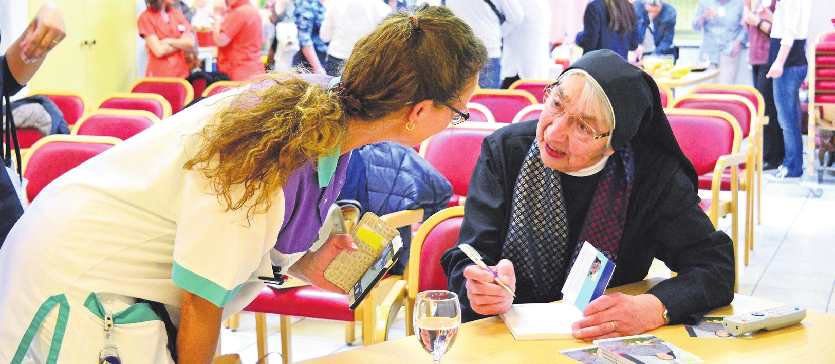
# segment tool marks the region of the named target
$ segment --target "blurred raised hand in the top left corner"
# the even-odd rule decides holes
[[[54,3],[44,3],[23,33],[23,41],[20,43],[20,47],[23,48],[21,58],[26,63],[43,58],[66,35],[61,9]]]

